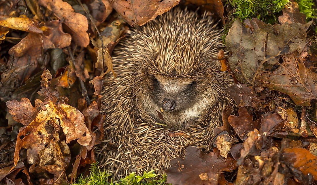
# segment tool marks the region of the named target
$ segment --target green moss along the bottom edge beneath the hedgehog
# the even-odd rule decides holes
[[[83,177],[82,175],[77,179],[76,183],[72,185],[165,185],[166,175],[161,175],[157,180],[158,175],[154,173],[154,170],[144,172],[143,175],[136,175],[131,173],[119,182],[114,183],[113,179],[110,179],[111,174],[107,171],[101,171],[97,166],[97,163],[93,163],[90,167],[90,175]]]

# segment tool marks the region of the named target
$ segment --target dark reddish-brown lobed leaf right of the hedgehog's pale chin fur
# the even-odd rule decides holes
[[[238,113],[239,116],[230,115],[228,121],[240,139],[244,141],[250,131],[260,128],[261,119],[253,121],[252,116],[249,115],[245,107],[240,107]]]

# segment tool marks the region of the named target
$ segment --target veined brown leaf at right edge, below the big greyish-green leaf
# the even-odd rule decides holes
[[[307,69],[301,59],[293,54],[282,56],[283,63],[274,71],[259,73],[258,84],[271,90],[288,94],[296,105],[310,105],[311,99],[317,99],[317,73]]]

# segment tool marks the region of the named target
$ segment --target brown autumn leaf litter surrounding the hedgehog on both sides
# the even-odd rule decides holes
[[[231,20],[217,0],[0,1],[0,184],[66,184],[87,174],[104,136],[101,92],[104,76],[116,76],[113,49],[129,26],[178,3]],[[168,183],[317,182],[316,24],[294,1],[277,21],[232,21],[229,54],[218,59],[236,82],[227,93],[237,107],[225,108],[212,152],[188,147],[171,161]]]

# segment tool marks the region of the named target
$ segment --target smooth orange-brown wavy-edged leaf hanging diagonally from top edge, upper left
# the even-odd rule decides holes
[[[70,4],[62,0],[39,0],[39,4],[52,11],[59,20],[63,20],[63,23],[68,27],[68,30],[65,31],[69,31],[79,46],[87,47],[89,36],[86,16],[75,13]]]

